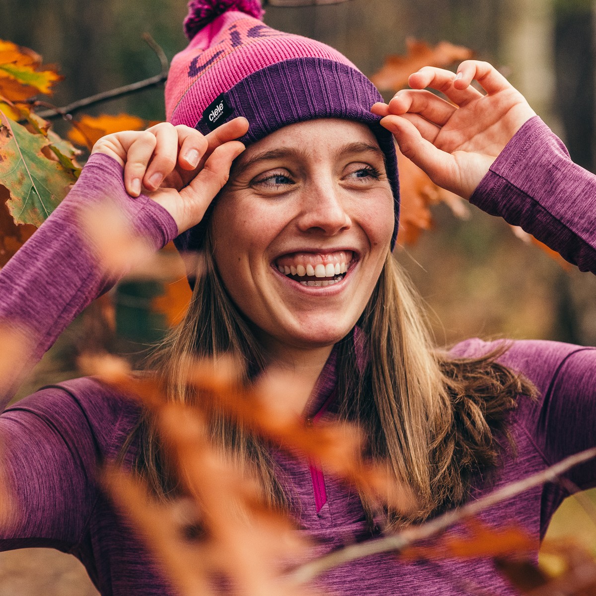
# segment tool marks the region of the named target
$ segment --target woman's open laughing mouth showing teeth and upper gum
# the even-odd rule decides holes
[[[354,262],[352,251],[327,254],[292,253],[275,259],[274,266],[302,285],[327,287],[339,283]]]

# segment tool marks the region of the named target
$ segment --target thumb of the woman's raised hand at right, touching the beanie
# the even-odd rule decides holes
[[[443,186],[452,168],[453,158],[437,149],[424,138],[418,128],[403,116],[389,116],[381,120],[398,141],[401,152],[424,170],[435,184]],[[443,183],[443,184],[442,184]]]

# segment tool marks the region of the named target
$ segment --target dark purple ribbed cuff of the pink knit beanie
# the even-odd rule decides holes
[[[188,95],[188,94],[187,94]],[[252,144],[284,126],[317,118],[355,120],[370,126],[386,156],[387,175],[395,201],[395,228],[392,247],[398,231],[399,182],[393,136],[378,123],[380,118],[370,111],[371,105],[382,101],[377,89],[352,66],[324,58],[294,58],[272,64],[246,76],[222,95],[229,114],[225,120],[244,116],[250,123],[249,132],[240,140]],[[219,100],[218,100],[219,101]],[[185,122],[175,116],[173,124],[195,126],[209,134],[207,119],[195,111],[177,110]],[[225,120],[222,120],[224,122]],[[204,224],[191,228],[176,238],[179,250],[200,249]]]

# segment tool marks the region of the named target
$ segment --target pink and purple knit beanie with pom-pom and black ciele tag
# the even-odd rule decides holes
[[[190,39],[170,66],[166,116],[204,135],[244,116],[250,145],[296,122],[342,118],[370,126],[386,156],[398,232],[399,184],[393,135],[380,126],[371,106],[383,101],[344,55],[328,45],[283,33],[261,20],[259,0],[191,0],[184,21]],[[201,225],[202,224],[202,225]],[[179,235],[179,250],[198,250],[205,224]]]

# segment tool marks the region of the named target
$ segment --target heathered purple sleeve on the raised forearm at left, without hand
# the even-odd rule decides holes
[[[64,328],[98,295],[108,280],[79,224],[79,209],[109,197],[117,201],[131,222],[157,250],[177,233],[172,217],[147,195],[130,197],[122,167],[103,154],[91,156],[79,181],[48,220],[0,272],[0,323],[27,339],[26,357],[10,362],[4,379],[2,409],[15,384],[52,346]],[[101,225],[101,224],[98,224]],[[3,354],[10,358],[10,349]]]

